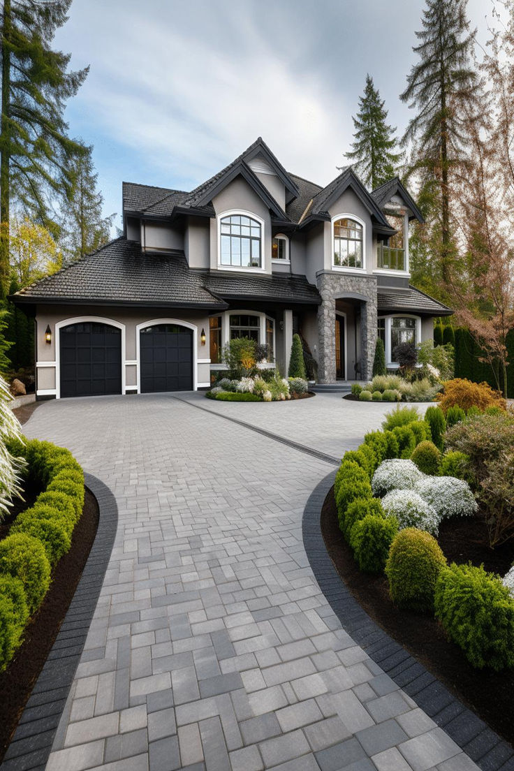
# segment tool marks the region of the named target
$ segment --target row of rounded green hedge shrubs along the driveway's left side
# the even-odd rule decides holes
[[[52,568],[69,551],[84,506],[84,473],[69,450],[37,439],[17,440],[8,449],[25,457],[25,476],[42,492],[0,541],[0,671],[18,647],[28,615],[42,603]]]

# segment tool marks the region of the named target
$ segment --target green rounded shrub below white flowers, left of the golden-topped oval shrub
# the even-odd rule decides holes
[[[388,558],[389,547],[398,533],[395,517],[373,514],[358,520],[351,528],[350,546],[361,571],[381,573]]]

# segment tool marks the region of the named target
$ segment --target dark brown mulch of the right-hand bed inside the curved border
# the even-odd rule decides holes
[[[445,638],[434,618],[395,608],[387,578],[359,571],[338,527],[333,488],[321,510],[321,532],[339,575],[371,618],[503,739],[514,744],[514,672],[473,669],[461,649]],[[447,520],[438,540],[448,562],[483,562],[487,570],[505,574],[514,560],[514,544],[494,551],[489,548],[487,530],[479,518]]]

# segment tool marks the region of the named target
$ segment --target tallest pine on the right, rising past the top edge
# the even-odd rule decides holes
[[[474,32],[466,0],[427,0],[412,66],[400,95],[416,110],[403,137],[414,143],[412,171],[419,173],[430,220],[428,251],[438,259],[445,284],[451,279],[455,245],[452,234],[452,173],[465,158],[469,107],[478,106],[479,79],[472,66]],[[478,112],[478,111],[477,111]]]

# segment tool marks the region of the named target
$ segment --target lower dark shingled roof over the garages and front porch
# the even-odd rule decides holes
[[[124,237],[14,295],[19,302],[139,303],[213,310],[227,308],[226,298],[321,302],[317,288],[304,276],[190,270],[182,251],[144,253],[139,243]]]

